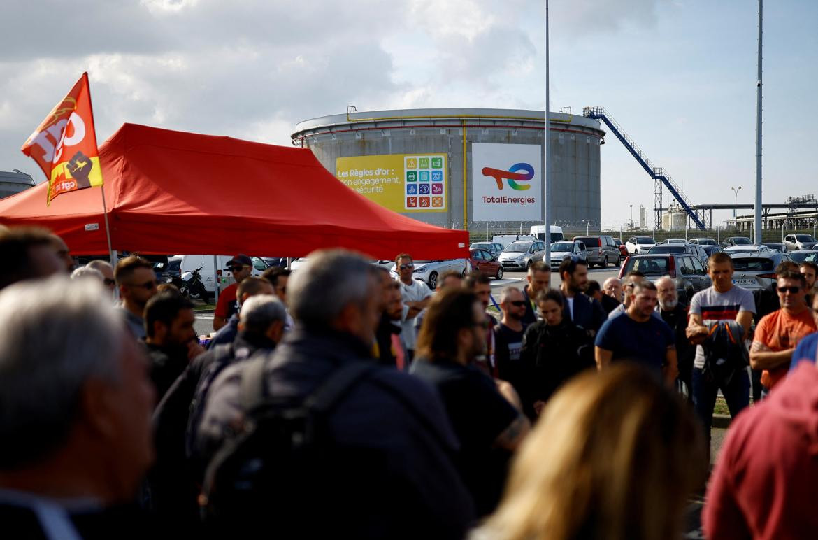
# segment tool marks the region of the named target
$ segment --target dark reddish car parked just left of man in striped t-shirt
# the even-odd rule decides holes
[[[686,252],[631,255],[622,263],[619,277],[625,277],[628,272],[633,271],[642,272],[648,281],[656,281],[663,276],[671,277],[676,282],[676,293],[683,304],[689,304],[694,293],[707,289],[712,284],[702,262]]]

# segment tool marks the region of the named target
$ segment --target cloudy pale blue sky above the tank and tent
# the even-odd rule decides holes
[[[290,145],[348,104],[542,110],[544,4],[5,0],[0,170],[44,180],[20,146],[84,70],[100,142],[133,122]],[[757,2],[551,0],[550,20],[551,110],[605,106],[694,204],[731,203],[730,186],[751,202]],[[816,23],[816,2],[766,4],[765,200],[818,191]],[[618,227],[653,184],[612,136],[601,159],[602,224]]]

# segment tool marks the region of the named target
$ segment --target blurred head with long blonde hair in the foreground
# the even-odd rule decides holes
[[[627,362],[587,372],[546,406],[515,459],[492,538],[681,538],[706,472],[689,407]]]

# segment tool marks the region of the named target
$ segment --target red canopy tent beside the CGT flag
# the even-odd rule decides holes
[[[469,235],[358,195],[301,148],[124,124],[100,148],[115,250],[301,257],[344,247],[392,259],[468,256]],[[0,200],[0,223],[40,225],[77,254],[108,252],[101,193],[46,206],[47,184]]]

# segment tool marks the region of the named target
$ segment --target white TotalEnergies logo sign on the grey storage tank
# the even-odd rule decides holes
[[[474,221],[542,220],[542,146],[473,144]]]

